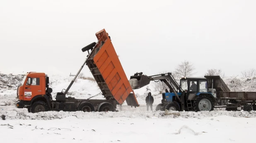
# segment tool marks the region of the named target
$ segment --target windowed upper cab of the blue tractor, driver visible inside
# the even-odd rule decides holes
[[[188,94],[208,92],[208,80],[204,77],[183,77],[180,80],[180,87]]]

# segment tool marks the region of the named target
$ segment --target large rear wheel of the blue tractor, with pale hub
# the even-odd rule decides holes
[[[199,95],[193,103],[193,108],[195,112],[212,111],[214,108],[213,100],[208,96]]]

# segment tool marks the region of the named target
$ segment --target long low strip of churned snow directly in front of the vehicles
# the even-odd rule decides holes
[[[126,108],[126,107],[124,107]],[[57,112],[48,111],[40,113],[28,113],[27,109],[19,110],[13,109],[9,111],[0,110],[0,115],[5,115],[6,119],[22,119],[22,120],[53,120],[62,119],[65,117],[75,116],[78,119],[96,119],[96,118],[115,118],[115,117],[128,117],[128,118],[206,118],[216,116],[230,116],[230,117],[256,117],[256,111],[201,111],[201,112],[179,112],[178,115],[164,115],[163,111],[145,111],[140,109],[130,109],[131,111],[119,112]]]

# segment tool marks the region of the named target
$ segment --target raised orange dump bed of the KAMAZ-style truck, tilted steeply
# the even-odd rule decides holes
[[[108,33],[103,29],[96,33],[96,37],[98,42],[89,54],[86,65],[99,85],[102,94],[108,100],[116,99],[120,105],[126,101],[128,105],[138,107],[138,101]]]

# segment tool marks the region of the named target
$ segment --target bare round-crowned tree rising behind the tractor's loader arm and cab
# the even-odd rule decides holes
[[[183,61],[181,64],[179,64],[175,69],[175,78],[180,77],[189,77],[191,75],[194,75],[193,71],[195,70],[193,64],[189,63],[188,61]]]

